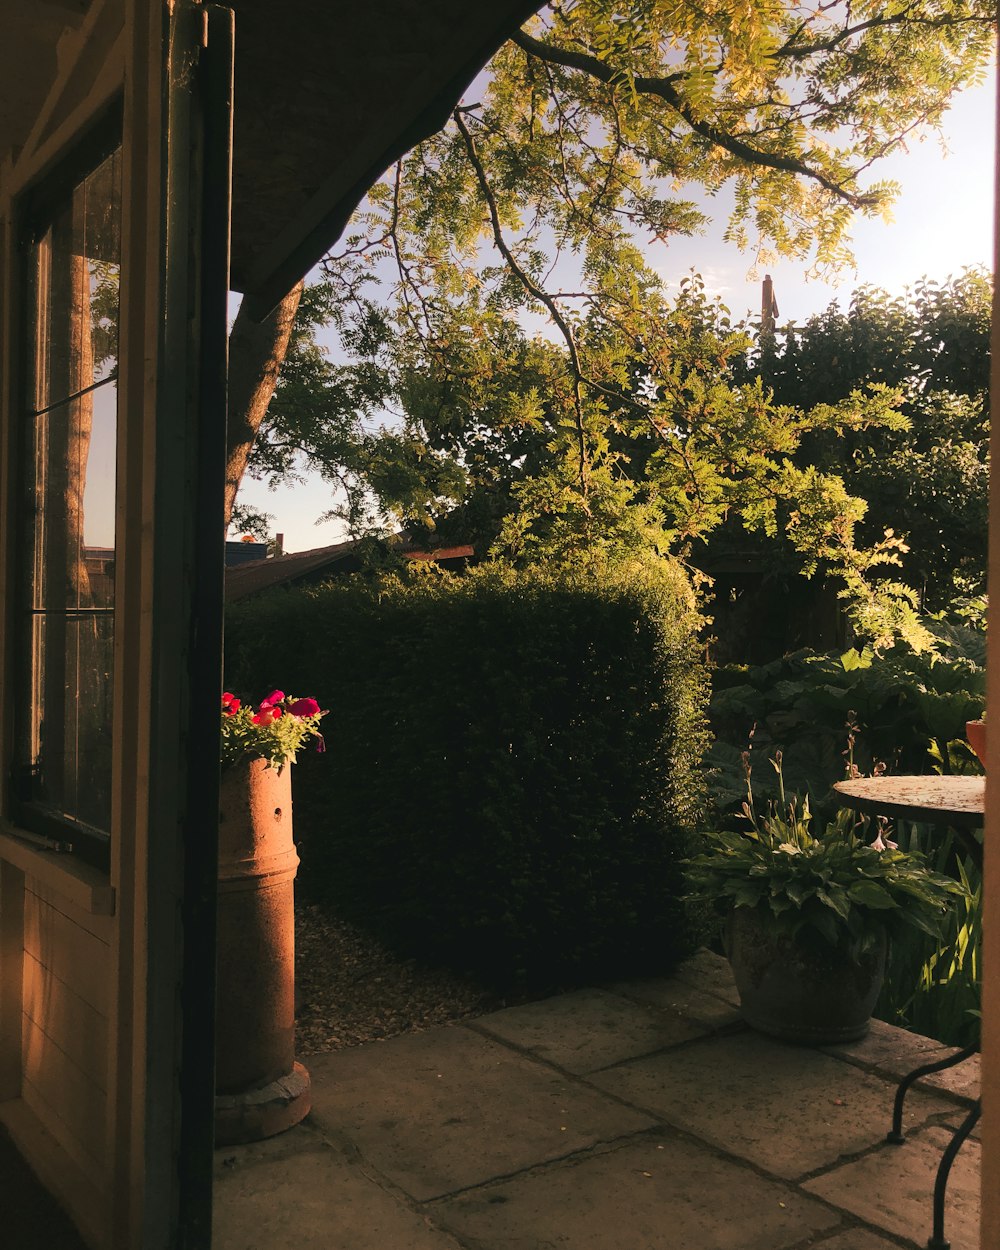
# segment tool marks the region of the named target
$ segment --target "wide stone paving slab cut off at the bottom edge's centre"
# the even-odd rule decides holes
[[[434,1215],[476,1250],[798,1250],[841,1222],[670,1134],[446,1199]]]

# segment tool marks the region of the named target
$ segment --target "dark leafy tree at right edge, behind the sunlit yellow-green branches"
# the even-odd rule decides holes
[[[902,428],[811,432],[801,456],[868,500],[864,535],[900,532],[902,576],[930,610],[985,589],[990,302],[981,270],[924,278],[901,296],[862,286],[846,311],[832,304],[790,326],[758,365],[795,405],[865,382],[902,394]]]

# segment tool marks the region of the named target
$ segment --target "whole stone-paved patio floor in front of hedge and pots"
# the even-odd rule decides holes
[[[216,1151],[216,1250],[922,1248],[978,1060],[894,1084],[938,1042],[875,1022],[810,1050],[739,1019],[729,965],[580,990],[309,1060],[312,1111]],[[979,1250],[979,1141],[946,1234]]]

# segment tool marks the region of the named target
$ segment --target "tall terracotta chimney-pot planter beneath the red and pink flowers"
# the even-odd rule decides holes
[[[256,1141],[309,1111],[295,1062],[291,768],[246,760],[219,796],[215,1138]]]

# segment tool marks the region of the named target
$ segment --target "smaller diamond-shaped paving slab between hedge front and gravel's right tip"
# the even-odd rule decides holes
[[[654,1010],[606,990],[578,990],[506,1008],[481,1016],[474,1028],[580,1074],[676,1046],[706,1031],[676,1008]]]

